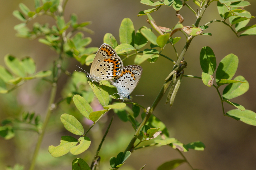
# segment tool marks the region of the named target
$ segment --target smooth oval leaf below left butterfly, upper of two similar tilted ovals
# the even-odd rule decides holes
[[[74,95],[73,101],[79,112],[82,113],[84,117],[90,120],[89,114],[93,112],[90,104],[82,96],[79,95]]]

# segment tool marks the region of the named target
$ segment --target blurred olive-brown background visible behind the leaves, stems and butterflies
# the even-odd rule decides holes
[[[119,42],[119,27],[123,18],[129,17],[133,21],[135,30],[142,25],[151,27],[146,22],[145,16],[137,17],[139,11],[150,8],[150,6],[139,2],[139,0],[69,0],[65,11],[65,19],[68,21],[70,14],[76,13],[79,22],[92,21],[92,25],[88,28],[95,31],[95,34],[84,34],[92,38],[92,43],[88,47],[99,47],[103,43],[105,33],[112,33]],[[54,51],[37,40],[30,41],[15,36],[16,31],[13,27],[19,24],[20,21],[12,15],[12,12],[13,10],[19,10],[19,3],[24,3],[30,9],[34,9],[32,0],[0,2],[0,64],[5,66],[3,58],[10,53],[18,58],[32,57],[36,62],[37,71],[50,69],[52,61],[57,59]],[[251,5],[245,9],[250,11],[252,16],[256,16],[256,1],[251,0],[250,3]],[[197,8],[192,1],[188,1],[188,4],[194,9]],[[196,20],[194,14],[186,7],[183,7],[179,14],[184,17],[183,25],[191,26]],[[167,6],[153,12],[152,17],[157,25],[163,27],[172,28],[178,22],[175,10]],[[207,8],[200,25],[214,19],[221,19],[217,10],[217,2],[211,3]],[[54,20],[48,16],[36,18],[29,23],[30,28],[34,22],[54,24]],[[253,24],[256,24],[255,19],[252,19],[248,25]],[[244,76],[250,84],[250,89],[246,94],[231,101],[256,112],[256,37],[243,36],[237,38],[230,28],[219,22],[210,24],[206,32],[212,33],[212,36],[197,36],[190,44],[185,55],[185,60],[188,63],[185,74],[201,76],[199,54],[203,46],[210,46],[213,49],[217,64],[230,53],[237,55],[239,66],[235,76]],[[176,44],[177,51],[180,53],[185,44],[185,37],[180,32],[177,32],[175,36],[182,37]],[[148,48],[149,45],[146,47]],[[163,54],[174,60],[176,58],[171,46],[166,47]],[[125,60],[124,65],[133,64],[133,60],[133,57]],[[73,72],[77,69],[75,64],[79,63],[76,60],[67,60],[67,70]],[[173,64],[160,56],[157,62],[149,63],[145,61],[141,66],[143,67],[143,75],[132,94],[144,96],[134,96],[133,101],[148,107],[153,103],[164,83],[164,79],[172,70]],[[83,66],[83,68],[87,71],[90,70],[90,66]],[[61,98],[62,89],[68,81],[69,77],[61,75],[56,99]],[[220,87],[220,91],[224,87]],[[9,116],[19,117],[23,111],[35,111],[36,114],[41,114],[42,119],[44,119],[49,92],[49,84],[33,80],[10,94],[1,94],[0,121]],[[256,127],[223,116],[220,99],[214,87],[205,86],[200,79],[184,77],[172,109],[168,104],[164,106],[165,99],[166,95],[158,104],[154,114],[165,123],[170,136],[179,139],[183,143],[200,140],[206,145],[204,151],[190,150],[184,153],[194,168],[207,170],[256,168]],[[227,103],[224,103],[224,107],[226,112],[234,109]],[[53,113],[41,146],[37,169],[71,169],[71,162],[76,157],[83,158],[88,164],[91,163],[97,145],[100,143],[108,122],[114,113],[109,112],[107,116],[103,117],[104,119],[99,125],[92,128],[92,133],[89,133],[92,145],[88,151],[78,156],[68,153],[60,158],[53,158],[48,153],[48,146],[59,145],[61,135],[71,135],[65,130],[59,117],[63,113],[72,111],[77,112],[73,106],[63,104]],[[89,127],[85,121],[83,125],[85,129]],[[133,134],[134,130],[130,123],[121,122],[118,116],[115,116],[99,154],[102,157],[101,169],[111,168],[108,162],[109,158],[124,151]],[[25,169],[27,169],[37,136],[33,132],[17,132],[13,139],[4,140],[0,138],[0,169],[4,169],[6,165],[13,166],[15,163],[25,165]],[[167,146],[144,148],[132,153],[122,169],[135,170],[147,164],[145,169],[153,170],[166,161],[178,158],[182,157],[176,150]],[[189,167],[187,164],[183,164],[177,169],[186,170]]]

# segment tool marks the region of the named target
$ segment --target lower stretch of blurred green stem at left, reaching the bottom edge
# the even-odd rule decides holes
[[[36,144],[36,149],[34,151],[33,158],[32,158],[29,170],[33,170],[34,167],[35,167],[37,155],[38,155],[42,140],[44,138],[44,134],[45,134],[45,131],[46,131],[47,124],[49,122],[52,111],[55,109],[54,100],[55,100],[55,96],[56,96],[56,90],[57,90],[57,84],[53,83],[52,84],[52,89],[51,89],[49,106],[48,106],[46,118],[45,118],[45,121],[44,121],[44,124],[43,124],[43,127],[42,127],[42,133],[39,135],[38,142]]]

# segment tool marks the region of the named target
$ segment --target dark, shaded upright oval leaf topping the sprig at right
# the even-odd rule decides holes
[[[200,65],[203,72],[212,75],[216,69],[216,57],[210,47],[204,46],[200,52]]]

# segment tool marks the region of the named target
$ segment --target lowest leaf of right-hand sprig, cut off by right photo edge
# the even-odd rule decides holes
[[[241,111],[239,109],[233,109],[228,111],[226,115],[246,124],[256,126],[256,113],[251,110]]]

